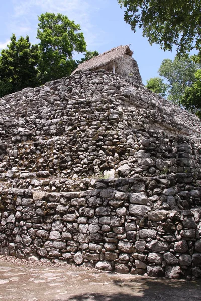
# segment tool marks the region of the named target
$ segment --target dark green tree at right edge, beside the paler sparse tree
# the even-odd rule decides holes
[[[190,87],[186,87],[181,104],[201,118],[201,69],[195,72],[194,83]]]

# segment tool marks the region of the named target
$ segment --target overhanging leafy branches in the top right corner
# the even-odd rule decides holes
[[[150,44],[161,49],[177,46],[178,53],[201,50],[200,0],[118,0],[125,7],[124,20],[136,31],[142,28]]]

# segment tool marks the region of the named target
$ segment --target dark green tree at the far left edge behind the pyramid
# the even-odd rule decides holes
[[[26,87],[36,87],[38,62],[38,45],[31,45],[28,36],[17,41],[13,34],[8,49],[3,49],[0,56],[2,96]]]

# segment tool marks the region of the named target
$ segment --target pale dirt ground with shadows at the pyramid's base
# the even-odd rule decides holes
[[[0,301],[201,301],[201,280],[167,280],[0,257]]]

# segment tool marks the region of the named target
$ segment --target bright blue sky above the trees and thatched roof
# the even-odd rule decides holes
[[[45,12],[61,13],[80,24],[88,50],[102,53],[131,44],[144,84],[158,76],[164,58],[173,59],[176,54],[175,49],[164,52],[159,45],[150,46],[141,30],[131,31],[117,0],[0,0],[0,49],[6,47],[12,33],[17,38],[28,35],[37,43],[38,16]]]

